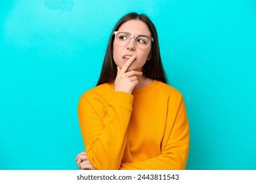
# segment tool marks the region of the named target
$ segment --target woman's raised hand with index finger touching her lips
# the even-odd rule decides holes
[[[120,69],[120,67],[117,66],[117,75],[115,80],[115,91],[116,92],[126,92],[126,93],[132,93],[135,86],[139,84],[139,81],[137,79],[138,75],[142,75],[142,72],[139,71],[128,71],[127,69],[133,63],[135,60],[135,56],[132,56],[129,58],[125,65]]]

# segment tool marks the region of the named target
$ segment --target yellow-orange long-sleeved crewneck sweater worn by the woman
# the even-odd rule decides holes
[[[154,80],[132,95],[101,84],[78,105],[85,152],[95,169],[184,169],[188,118],[181,93]]]

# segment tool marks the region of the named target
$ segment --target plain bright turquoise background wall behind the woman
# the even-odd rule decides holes
[[[146,13],[190,120],[186,169],[256,169],[256,1],[0,1],[0,169],[77,169],[77,103],[117,20]]]

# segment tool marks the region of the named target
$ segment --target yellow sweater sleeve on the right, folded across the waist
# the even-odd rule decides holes
[[[182,95],[171,96],[169,99],[167,125],[161,145],[160,156],[144,161],[122,163],[119,169],[185,169],[188,158],[189,129]]]

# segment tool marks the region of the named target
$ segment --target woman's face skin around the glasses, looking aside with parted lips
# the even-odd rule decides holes
[[[122,24],[117,31],[129,32],[132,37],[136,37],[141,34],[151,37],[148,26],[141,20],[129,20]],[[136,59],[131,63],[128,71],[142,71],[143,65],[149,59],[151,44],[152,42],[150,42],[147,48],[140,49],[135,44],[135,39],[131,39],[131,41],[125,46],[120,46],[116,41],[114,41],[113,58],[116,65],[122,68],[125,61],[129,59],[129,56],[135,55]]]

